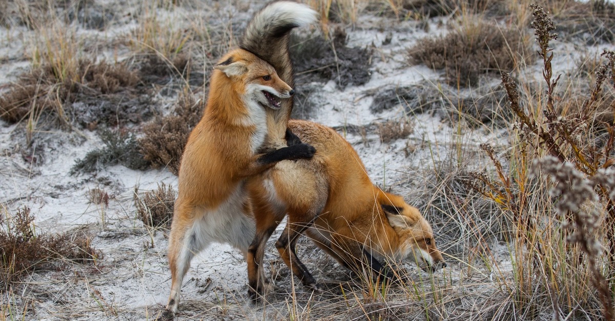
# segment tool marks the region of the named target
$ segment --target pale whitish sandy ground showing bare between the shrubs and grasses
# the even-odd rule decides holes
[[[109,25],[105,31],[84,29],[73,23],[77,34],[84,33],[90,39],[106,39],[109,42],[109,39],[129,33],[130,29],[135,28],[135,21],[125,17],[125,13],[132,12],[132,6],[136,4],[115,4],[111,1],[101,3],[106,6],[125,6],[117,10],[122,16],[120,21]],[[235,4],[220,2],[218,6],[223,9],[220,9],[219,14],[222,16],[224,12],[231,12],[233,19],[241,21],[239,25],[245,25],[247,18],[262,2],[241,2],[241,6],[248,8],[245,11],[233,9]],[[178,7],[173,14],[193,18],[199,13]],[[446,32],[443,27],[446,21],[438,23],[438,19],[446,18],[434,19],[430,21],[432,28],[426,33],[417,27],[415,21],[399,22],[371,15],[359,17],[354,28],[347,28],[347,46],[374,46],[371,79],[363,85],[351,85],[344,89],[338,88],[333,80],[312,84],[319,90],[314,91],[310,98],[314,106],[317,106],[311,120],[341,128],[346,139],[359,152],[373,182],[386,188],[391,187],[401,195],[410,195],[426,188],[424,176],[437,171],[435,164],[448,161],[451,146],[458,142],[477,150],[478,144],[482,142],[499,145],[506,144],[508,139],[506,128],[487,131],[464,126],[459,131],[459,127],[451,125],[436,112],[409,115],[414,125],[413,132],[405,139],[391,143],[381,143],[375,131],[368,131],[365,137],[351,131],[344,132],[343,128],[351,125],[369,126],[384,120],[407,117],[401,105],[376,114],[371,112],[373,95],[366,93],[415,84],[435,85],[442,81],[440,73],[424,65],[411,66],[407,61],[407,48],[418,39]],[[389,29],[394,29],[391,42],[382,45]],[[34,39],[31,33],[22,26],[0,29],[0,90],[29,68],[28,57]],[[574,45],[563,45],[571,47],[567,50],[571,55],[558,56],[555,66],[560,71],[572,68],[573,53],[579,52],[579,48]],[[590,50],[599,52],[601,47]],[[125,49],[119,52],[98,52],[99,58],[113,56],[121,61],[130,58],[130,52]],[[494,82],[497,83],[497,79]],[[173,95],[156,97],[162,112],[168,112],[165,107],[168,108],[174,99]],[[18,207],[30,206],[36,215],[35,223],[39,233],[74,229],[89,231],[93,236],[92,243],[103,252],[104,258],[95,266],[76,265],[31,274],[24,280],[23,293],[3,293],[2,304],[15,297],[21,302],[15,302],[17,306],[30,300],[33,310],[28,312],[25,319],[152,319],[162,304],[165,304],[169,294],[170,274],[165,256],[167,238],[165,231],[149,231],[135,218],[132,198],[135,187],[140,191],[153,190],[157,184],[164,182],[177,188],[177,177],[165,169],[133,171],[119,165],[103,168],[96,175],[69,175],[77,159],[100,147],[100,137],[88,130],[39,133],[35,145],[36,149],[42,150],[42,161],[33,164],[22,152],[25,149],[23,126],[0,121],[0,203],[7,204],[9,212]],[[412,147],[410,155],[407,155],[408,144]],[[477,160],[474,166],[480,168],[484,163]],[[93,188],[103,188],[113,196],[108,208],[89,203],[87,193]],[[411,199],[407,201],[413,204]],[[431,219],[429,216],[426,218]],[[438,234],[435,237],[438,238]],[[315,250],[309,242],[300,242],[300,247],[301,255],[317,279],[326,282],[349,280],[346,271],[325,254]],[[440,243],[440,248],[446,249],[447,244]],[[507,245],[495,242],[492,249],[494,257],[499,258],[496,259],[498,269],[504,272],[510,270]],[[448,284],[454,292],[458,282],[467,279],[467,271],[464,270],[468,267],[460,258],[449,256],[447,260],[449,268],[435,274],[434,279],[435,283]],[[210,246],[192,261],[183,285],[180,309],[188,319],[286,319],[290,309],[290,295],[285,296],[284,291],[292,291],[293,280],[288,276],[288,271],[284,272],[285,267],[280,263],[271,242],[266,262],[269,262],[272,270],[281,271],[279,285],[284,290],[272,299],[272,304],[252,306],[246,301],[247,273],[242,256],[224,244]],[[429,282],[430,277],[413,263],[405,262],[403,266],[417,282]],[[480,264],[474,269],[480,279],[493,278],[490,274],[493,269]],[[294,288],[296,292],[306,291],[300,285]]]

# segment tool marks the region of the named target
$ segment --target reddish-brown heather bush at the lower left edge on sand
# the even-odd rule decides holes
[[[28,207],[0,221],[0,282],[4,290],[25,273],[62,265],[65,260],[95,263],[102,258],[84,234],[36,234],[33,222]]]

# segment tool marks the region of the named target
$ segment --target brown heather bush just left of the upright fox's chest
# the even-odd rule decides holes
[[[177,175],[186,141],[203,110],[204,100],[195,101],[191,94],[183,93],[172,115],[156,117],[143,126],[144,136],[138,139],[138,144],[145,160],[153,168],[166,167]]]

